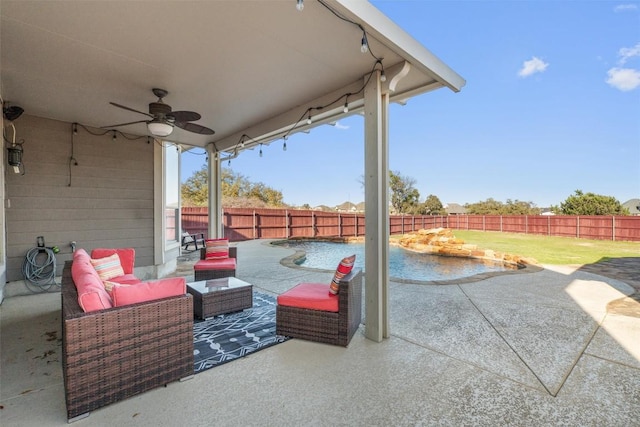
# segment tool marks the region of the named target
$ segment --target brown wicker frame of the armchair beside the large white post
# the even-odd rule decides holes
[[[346,347],[362,320],[361,269],[340,281],[337,298],[337,313],[278,304],[276,334]]]

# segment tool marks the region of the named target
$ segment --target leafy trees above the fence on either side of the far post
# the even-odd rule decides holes
[[[284,205],[282,192],[262,182],[253,183],[229,168],[222,168],[221,184],[223,206],[280,207]],[[206,206],[208,199],[209,180],[205,165],[182,184],[182,205]]]

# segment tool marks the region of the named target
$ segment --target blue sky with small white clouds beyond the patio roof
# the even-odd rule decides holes
[[[390,108],[389,167],[415,180],[421,201],[547,207],[578,189],[640,198],[640,2],[372,3],[467,81]],[[291,205],[358,203],[363,123],[349,117],[224,166]],[[182,180],[204,161],[184,154]]]

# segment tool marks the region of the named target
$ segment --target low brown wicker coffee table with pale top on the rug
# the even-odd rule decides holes
[[[193,312],[199,319],[253,306],[253,285],[235,277],[187,283],[193,295]]]

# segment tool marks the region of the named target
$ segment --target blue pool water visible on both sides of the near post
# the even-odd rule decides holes
[[[288,241],[281,246],[304,251],[302,267],[334,270],[345,256],[356,254],[355,266],[364,270],[364,243]],[[474,258],[421,254],[397,246],[389,247],[389,275],[396,279],[435,281],[470,277],[487,272],[512,270],[500,263]]]

